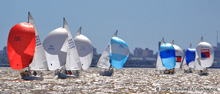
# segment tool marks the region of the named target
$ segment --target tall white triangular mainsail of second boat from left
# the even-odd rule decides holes
[[[66,70],[80,70],[81,69],[80,58],[65,18],[64,18],[64,28],[67,30],[67,35],[68,35],[67,56],[66,56],[66,64],[65,64]]]

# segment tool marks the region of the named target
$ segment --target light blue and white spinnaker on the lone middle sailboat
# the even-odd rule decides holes
[[[121,69],[127,61],[130,53],[128,45],[118,37],[112,37],[110,44],[110,63],[116,69]]]

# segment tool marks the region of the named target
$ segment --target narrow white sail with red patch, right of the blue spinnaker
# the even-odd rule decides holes
[[[176,64],[175,64],[175,69],[180,69],[182,60],[183,60],[183,50],[174,44],[174,40],[172,41],[173,47],[175,49],[175,55],[176,55]]]

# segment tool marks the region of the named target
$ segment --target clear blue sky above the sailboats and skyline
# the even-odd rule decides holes
[[[63,17],[75,36],[82,26],[102,53],[116,30],[133,53],[135,47],[158,51],[158,42],[172,42],[187,49],[201,36],[216,46],[220,31],[220,0],[2,0],[0,1],[0,49],[7,45],[10,29],[27,22],[31,12],[41,41],[63,26]],[[220,32],[219,32],[220,33]]]

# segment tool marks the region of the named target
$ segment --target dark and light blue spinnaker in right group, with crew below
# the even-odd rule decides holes
[[[173,74],[176,64],[175,48],[170,43],[163,43],[160,45],[159,53],[162,64],[166,68],[164,74]]]

